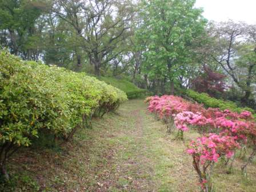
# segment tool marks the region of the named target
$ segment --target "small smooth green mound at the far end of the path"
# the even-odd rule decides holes
[[[133,83],[125,79],[117,79],[111,77],[101,77],[100,79],[102,81],[105,81],[107,84],[117,87],[118,89],[124,91],[129,99],[135,99],[146,94],[145,89],[139,89]]]

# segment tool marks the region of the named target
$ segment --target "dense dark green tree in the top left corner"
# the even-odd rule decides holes
[[[38,0],[0,0],[1,44],[23,59],[38,60],[43,23],[35,24],[45,8]]]

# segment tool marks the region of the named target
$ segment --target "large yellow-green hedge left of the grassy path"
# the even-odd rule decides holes
[[[39,133],[70,139],[127,100],[126,94],[94,77],[49,67],[0,52],[0,165]]]

